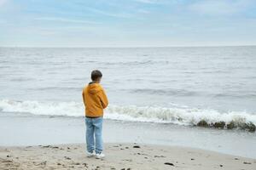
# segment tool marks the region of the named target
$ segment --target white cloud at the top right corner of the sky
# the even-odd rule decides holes
[[[200,14],[236,14],[244,11],[251,0],[201,0],[189,6],[189,9]]]

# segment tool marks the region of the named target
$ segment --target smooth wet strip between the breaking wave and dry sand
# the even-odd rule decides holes
[[[1,116],[0,124],[0,146],[83,144],[85,141],[85,123],[81,118]],[[105,143],[178,145],[256,157],[255,133],[112,120],[104,120],[103,126]]]

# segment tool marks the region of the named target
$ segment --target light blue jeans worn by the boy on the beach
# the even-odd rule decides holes
[[[90,153],[92,153],[94,150],[96,151],[96,154],[102,153],[102,150],[103,150],[102,122],[103,122],[102,116],[97,118],[85,117],[86,144],[87,144],[87,151]]]

